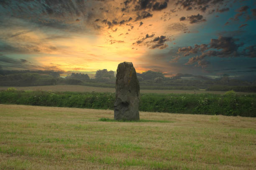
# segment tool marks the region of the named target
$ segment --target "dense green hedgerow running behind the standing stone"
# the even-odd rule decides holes
[[[0,91],[0,103],[114,109],[115,93]],[[256,117],[256,95],[141,94],[140,111]]]

